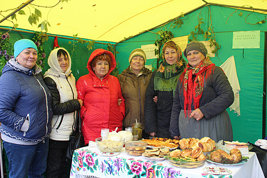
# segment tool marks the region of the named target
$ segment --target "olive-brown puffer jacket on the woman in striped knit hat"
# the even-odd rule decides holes
[[[146,87],[149,84],[152,71],[144,68],[143,73],[136,76],[130,71],[130,66],[118,75],[122,94],[125,99],[124,128],[132,127],[136,120],[142,123],[144,130],[144,100]]]

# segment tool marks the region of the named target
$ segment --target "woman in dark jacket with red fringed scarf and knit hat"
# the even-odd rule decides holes
[[[176,86],[170,121],[173,138],[210,137],[232,141],[232,126],[225,110],[234,100],[232,87],[223,70],[206,56],[205,45],[187,44],[188,64]]]

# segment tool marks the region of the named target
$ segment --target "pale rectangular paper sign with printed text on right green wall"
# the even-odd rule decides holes
[[[260,31],[233,32],[233,49],[259,48]]]

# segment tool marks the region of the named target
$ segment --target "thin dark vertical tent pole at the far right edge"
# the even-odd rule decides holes
[[[266,137],[266,67],[267,65],[267,32],[264,32],[264,57],[263,57],[263,100],[262,100],[262,139]]]

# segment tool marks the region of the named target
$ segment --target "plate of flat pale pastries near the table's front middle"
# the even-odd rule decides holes
[[[169,155],[170,151],[167,147],[160,147],[155,149],[146,149],[142,157],[151,161],[162,161],[165,160],[165,156]]]

